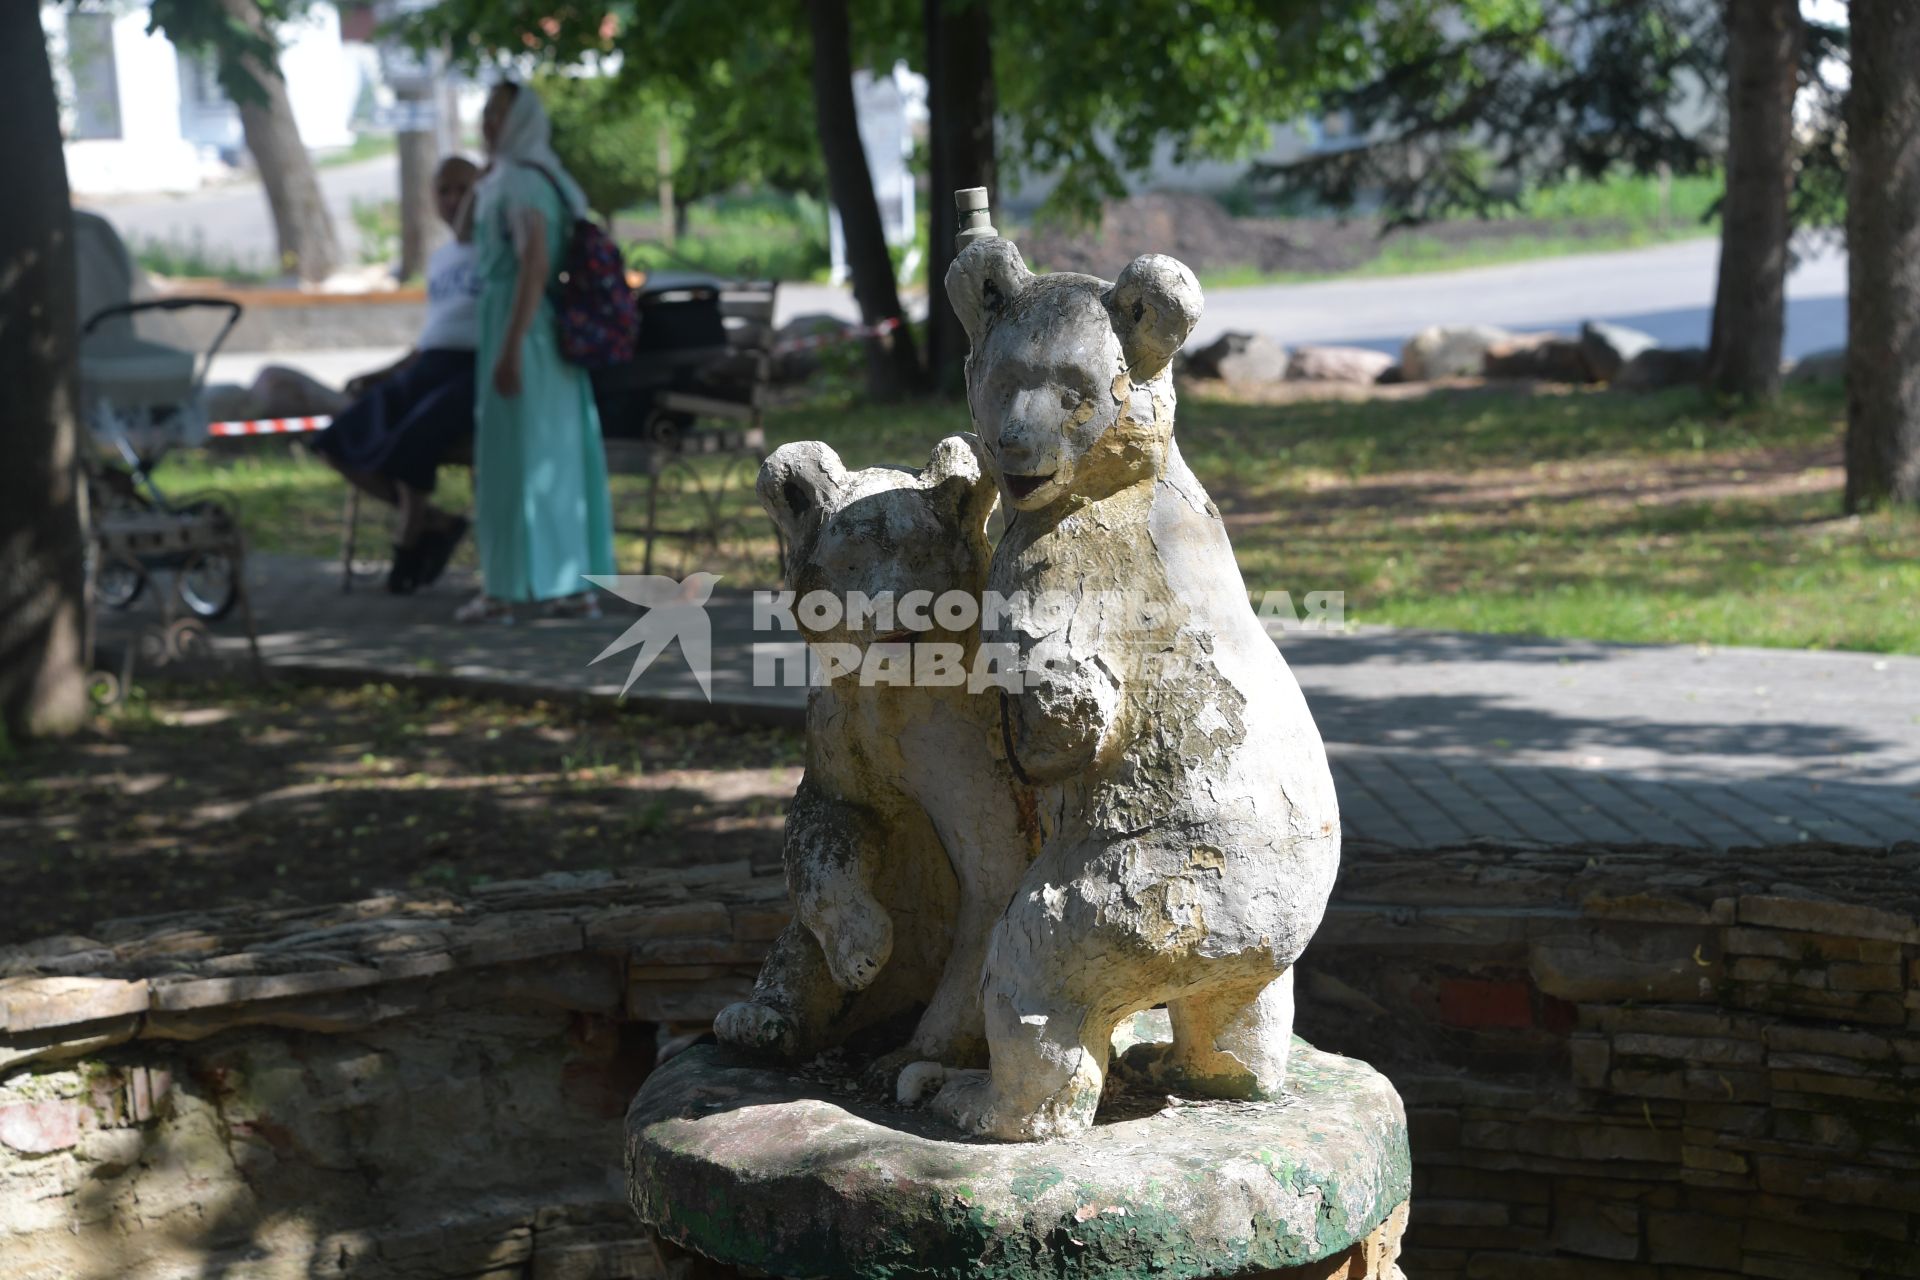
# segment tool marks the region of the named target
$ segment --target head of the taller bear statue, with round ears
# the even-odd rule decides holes
[[[1012,510],[1096,499],[1158,474],[1173,438],[1173,353],[1200,320],[1200,282],[1160,253],[1119,280],[1035,276],[1006,240],[947,271],[966,326],[968,403]]]

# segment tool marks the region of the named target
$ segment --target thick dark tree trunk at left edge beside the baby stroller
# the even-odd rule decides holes
[[[73,213],[40,10],[0,6],[0,725],[46,737],[86,714]]]

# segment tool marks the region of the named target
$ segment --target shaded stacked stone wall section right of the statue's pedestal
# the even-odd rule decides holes
[[[1302,1031],[1386,1071],[1419,1280],[1920,1276],[1920,846],[1350,856]]]

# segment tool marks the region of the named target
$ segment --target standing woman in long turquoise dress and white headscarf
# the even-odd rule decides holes
[[[480,359],[474,535],[486,591],[455,614],[511,622],[599,616],[586,574],[612,574],[612,507],[593,384],[561,359],[547,286],[561,269],[580,186],[549,144],[534,90],[503,83],[480,117],[493,163],[474,192]]]

